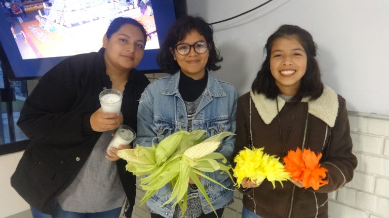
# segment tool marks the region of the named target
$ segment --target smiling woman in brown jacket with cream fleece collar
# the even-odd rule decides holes
[[[298,26],[283,25],[267,39],[266,59],[251,91],[238,100],[237,146],[264,147],[281,159],[297,147],[321,152],[328,184],[314,191],[300,181],[284,187],[264,181],[242,182],[242,217],[327,217],[328,192],[353,178],[345,100],[324,86],[312,36]]]

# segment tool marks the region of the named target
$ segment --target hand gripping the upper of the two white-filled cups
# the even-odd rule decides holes
[[[105,132],[114,130],[122,123],[123,116],[120,114],[103,113],[101,107],[91,116],[91,127],[93,131]]]

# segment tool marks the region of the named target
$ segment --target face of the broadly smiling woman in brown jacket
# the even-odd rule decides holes
[[[276,39],[271,46],[270,71],[281,93],[297,93],[306,72],[307,57],[300,42],[293,36]]]

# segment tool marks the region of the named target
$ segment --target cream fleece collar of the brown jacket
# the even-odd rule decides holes
[[[254,102],[255,108],[259,116],[265,124],[270,124],[277,116],[277,101],[275,99],[266,98],[263,94],[253,93],[250,91],[251,99]],[[280,96],[278,98],[278,107],[280,111],[285,105],[285,100]],[[324,86],[323,94],[315,100],[310,100],[309,97],[303,97],[301,102],[308,103],[308,113],[319,118],[328,126],[334,127],[336,116],[338,114],[338,95],[328,86]]]

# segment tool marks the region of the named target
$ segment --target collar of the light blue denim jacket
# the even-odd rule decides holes
[[[168,77],[169,78],[169,77]],[[170,80],[166,89],[162,92],[164,95],[173,95],[179,93],[178,83],[180,81],[180,71],[170,76]],[[205,87],[206,92],[213,97],[224,97],[227,96],[221,87],[219,81],[211,73],[208,72],[208,81]]]

